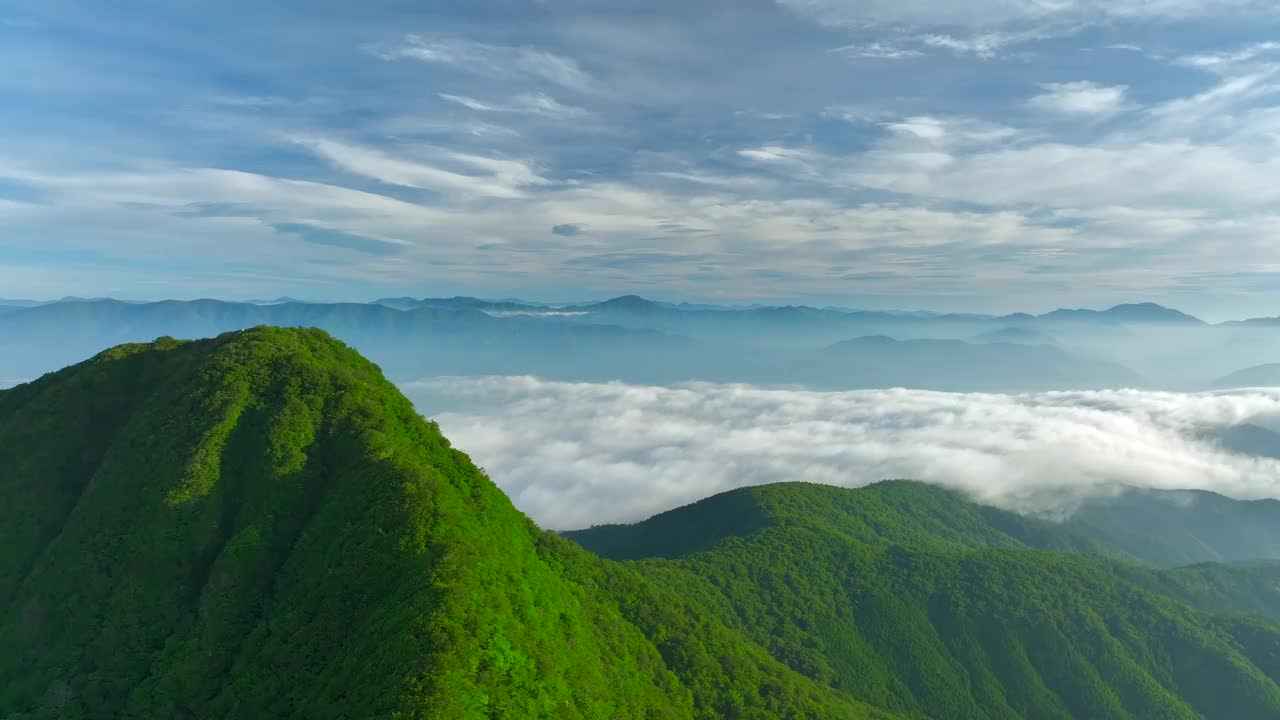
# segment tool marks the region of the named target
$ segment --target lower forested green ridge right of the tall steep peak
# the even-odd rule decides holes
[[[746,511],[748,528],[708,537],[699,527]],[[681,527],[698,528],[684,550],[672,537]],[[618,546],[660,550],[627,566],[716,609],[796,670],[906,715],[1280,716],[1268,655],[1280,628],[1192,610],[1111,559],[1047,550],[1087,541],[937,488],[768,486],[570,537],[622,557]]]

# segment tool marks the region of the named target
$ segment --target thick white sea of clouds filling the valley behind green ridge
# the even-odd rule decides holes
[[[1280,461],[1213,439],[1243,423],[1280,429],[1280,388],[815,392],[530,377],[402,387],[521,510],[553,529],[641,520],[782,480],[858,487],[910,478],[1047,514],[1117,486],[1280,497]]]

